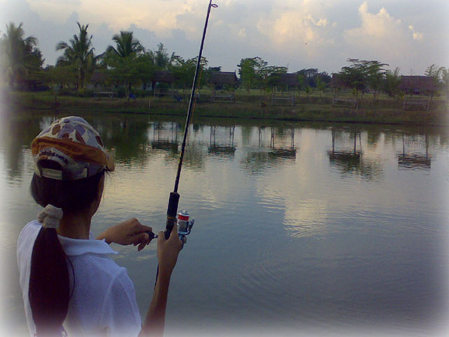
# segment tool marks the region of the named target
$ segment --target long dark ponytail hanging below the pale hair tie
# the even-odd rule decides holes
[[[38,337],[61,336],[70,298],[66,259],[55,228],[42,227],[34,242],[28,292]]]

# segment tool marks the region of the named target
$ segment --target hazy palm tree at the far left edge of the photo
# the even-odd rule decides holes
[[[37,45],[35,37],[26,37],[22,28],[22,23],[15,26],[13,22],[6,25],[6,34],[1,38],[1,59],[4,63],[4,71],[10,86],[23,77],[28,72],[29,55],[34,53],[34,46]]]

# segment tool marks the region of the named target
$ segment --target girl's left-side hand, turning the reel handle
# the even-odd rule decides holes
[[[138,251],[141,251],[152,241],[152,237],[149,237],[147,231],[152,232],[152,227],[142,225],[138,219],[131,218],[123,221],[123,223],[109,227],[97,239],[106,239],[108,244],[115,242],[123,246],[128,244],[139,245]]]

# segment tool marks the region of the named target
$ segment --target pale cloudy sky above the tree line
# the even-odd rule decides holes
[[[378,60],[401,74],[449,67],[448,0],[215,0],[203,51],[212,67],[238,70],[256,56],[288,72],[339,72],[349,58]],[[88,24],[95,53],[133,31],[143,46],[162,43],[182,58],[198,55],[208,0],[0,0],[0,34],[23,22],[54,65],[60,41]]]

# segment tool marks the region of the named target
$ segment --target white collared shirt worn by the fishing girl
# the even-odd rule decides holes
[[[28,299],[29,272],[39,230],[41,224],[37,220],[28,223],[20,232],[17,245],[20,288],[30,336],[34,336],[36,326]],[[116,251],[105,241],[92,237],[69,239],[58,235],[58,238],[75,275],[73,280],[69,268],[74,291],[62,324],[68,336],[138,336],[141,318],[134,285],[126,269],[109,258]]]

